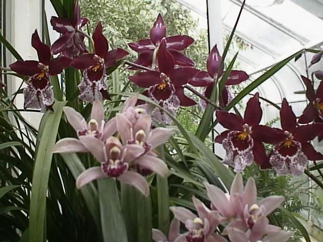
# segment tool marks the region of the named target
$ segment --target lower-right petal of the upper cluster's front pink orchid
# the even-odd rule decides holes
[[[139,173],[128,170],[126,173],[118,176],[117,179],[122,183],[135,187],[145,197],[149,195],[149,185],[147,180]]]

